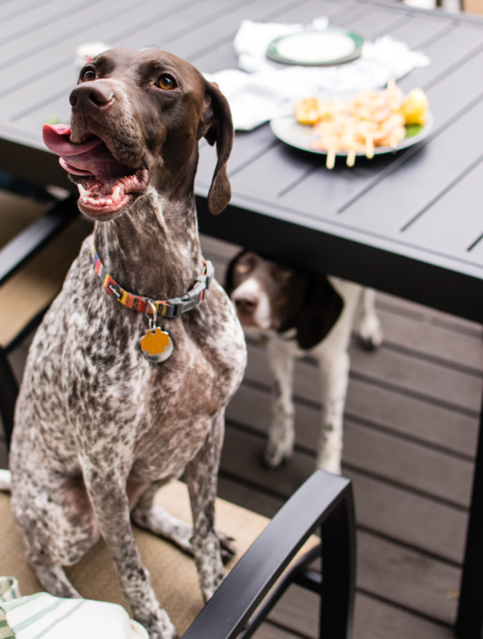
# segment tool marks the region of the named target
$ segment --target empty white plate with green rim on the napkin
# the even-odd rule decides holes
[[[355,60],[361,55],[363,44],[364,38],[351,31],[304,30],[272,40],[266,56],[282,64],[329,66]]]

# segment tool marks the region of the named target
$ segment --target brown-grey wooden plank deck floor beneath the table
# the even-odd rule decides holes
[[[236,247],[203,238],[217,277]],[[351,346],[343,473],[355,487],[355,639],[453,636],[483,381],[481,327],[380,294],[384,344]],[[21,374],[28,341],[12,353]],[[248,370],[228,408],[221,497],[273,515],[315,464],[317,370],[297,364],[297,446],[280,470],[259,465],[270,374],[249,343]],[[1,443],[1,442],[0,442]],[[0,463],[5,463],[4,452]],[[315,637],[317,604],[293,587],[259,639]]]

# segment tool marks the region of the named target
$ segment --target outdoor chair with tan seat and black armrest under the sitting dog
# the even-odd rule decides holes
[[[181,481],[161,488],[157,501],[170,513],[190,520],[187,489]],[[41,587],[27,565],[9,502],[10,497],[0,493],[1,571],[17,578],[21,594],[28,595]],[[206,605],[193,559],[135,526],[139,552],[157,597],[180,636],[248,638],[288,586],[299,584],[320,595],[319,637],[351,637],[355,580],[351,481],[316,470],[271,520],[222,499],[217,499],[216,508],[217,526],[235,537],[237,555]],[[314,533],[322,534],[322,544]],[[319,566],[317,560],[322,560],[322,575],[313,567],[314,562]],[[67,573],[83,597],[125,604],[102,540]]]

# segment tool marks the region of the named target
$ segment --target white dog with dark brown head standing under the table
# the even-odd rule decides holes
[[[310,354],[322,376],[317,467],[340,473],[348,345],[361,303],[359,340],[367,349],[382,342],[375,293],[346,280],[266,260],[251,251],[242,251],[230,262],[225,287],[245,332],[267,338],[275,397],[264,463],[276,468],[293,453],[294,359]]]

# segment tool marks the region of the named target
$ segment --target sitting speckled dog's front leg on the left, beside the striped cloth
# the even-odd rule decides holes
[[[126,478],[106,459],[81,459],[83,477],[99,530],[115,564],[119,585],[132,613],[148,630],[150,639],[174,639],[177,636],[168,613],[161,608],[141,562],[130,524]]]

